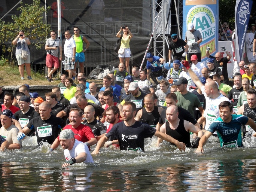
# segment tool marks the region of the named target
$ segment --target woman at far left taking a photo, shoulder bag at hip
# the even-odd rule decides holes
[[[31,70],[30,70],[30,52],[29,52],[29,47],[28,47],[28,45],[30,45],[30,41],[29,41],[29,38],[27,38],[25,36],[23,30],[19,31],[19,35],[12,41],[12,44],[17,45],[15,56],[18,61],[21,80],[24,80],[24,64],[26,66],[26,72],[28,75],[27,78],[29,80],[32,80],[31,74],[30,74],[30,72],[31,72]],[[21,58],[22,50],[28,51],[28,56],[27,56],[26,60]]]

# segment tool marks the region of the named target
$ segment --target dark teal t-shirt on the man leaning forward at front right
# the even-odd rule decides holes
[[[242,135],[241,135],[241,126],[245,125],[248,122],[248,117],[244,115],[231,115],[232,120],[229,123],[223,122],[221,117],[216,119],[210,125],[208,131],[214,133],[217,131],[217,134],[220,138],[221,147],[223,143],[229,143],[236,141],[238,147],[242,147]]]

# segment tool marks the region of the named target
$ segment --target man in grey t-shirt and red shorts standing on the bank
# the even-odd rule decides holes
[[[45,50],[47,52],[46,66],[48,68],[46,78],[48,81],[53,82],[51,76],[59,68],[59,61],[62,60],[62,47],[60,40],[56,38],[56,32],[54,30],[50,32],[50,35],[51,38],[47,39],[45,43]],[[60,56],[58,57],[59,53]]]

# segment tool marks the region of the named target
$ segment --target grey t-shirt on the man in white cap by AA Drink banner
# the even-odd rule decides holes
[[[201,32],[196,29],[193,32],[186,32],[185,41],[187,41],[188,44],[188,53],[201,53],[199,44],[194,47],[192,46],[192,43],[197,42],[201,38]]]

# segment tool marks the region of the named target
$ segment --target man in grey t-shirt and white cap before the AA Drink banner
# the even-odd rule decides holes
[[[200,43],[203,41],[201,32],[194,29],[193,23],[187,24],[187,32],[185,36],[185,42],[188,44],[187,60],[191,64],[190,58],[192,55],[196,55],[198,61],[201,62],[201,50]]]

